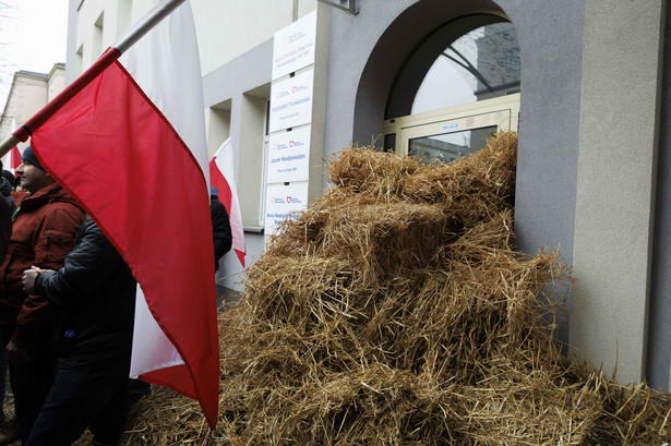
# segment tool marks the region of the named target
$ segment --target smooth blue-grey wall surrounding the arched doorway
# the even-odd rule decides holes
[[[450,19],[482,10],[507,14],[520,46],[518,246],[536,253],[560,245],[571,263],[584,0],[367,0],[357,16],[334,12],[325,155],[379,136],[395,75],[412,48]],[[560,338],[567,339],[565,325]]]

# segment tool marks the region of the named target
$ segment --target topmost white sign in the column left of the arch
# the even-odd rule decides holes
[[[314,63],[316,11],[275,33],[273,81]]]

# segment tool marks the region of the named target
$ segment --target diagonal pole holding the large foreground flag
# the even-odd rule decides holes
[[[10,149],[25,142],[37,129],[53,116],[65,103],[80,93],[91,81],[111,65],[133,44],[140,40],[161,20],[175,11],[184,0],[164,0],[152,8],[137,23],[131,26],[119,39],[107,49],[81,76],[68,85],[58,96],[44,106],[33,118],[16,129],[10,136],[0,143],[0,158]]]

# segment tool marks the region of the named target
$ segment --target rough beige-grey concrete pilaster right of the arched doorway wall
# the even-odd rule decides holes
[[[585,2],[573,352],[645,377],[663,0]]]

